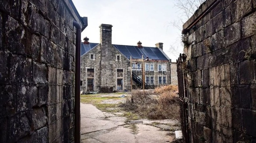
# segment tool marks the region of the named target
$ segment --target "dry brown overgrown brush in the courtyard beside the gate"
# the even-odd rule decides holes
[[[169,85],[167,87],[156,88],[156,96],[148,92],[135,90],[133,92],[133,103],[131,96],[128,96],[126,103],[122,103],[126,111],[131,111],[142,118],[148,119],[179,119],[179,101],[177,86]]]

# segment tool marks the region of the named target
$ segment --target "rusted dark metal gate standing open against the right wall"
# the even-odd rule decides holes
[[[177,72],[178,72],[178,86],[179,86],[179,97],[180,102],[180,116],[181,116],[181,131],[185,140],[185,143],[189,143],[189,125],[188,125],[188,91],[186,84],[186,56],[180,54],[177,60]]]

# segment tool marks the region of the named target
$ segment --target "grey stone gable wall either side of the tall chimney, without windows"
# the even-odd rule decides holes
[[[131,72],[130,72],[130,60],[125,56],[121,55],[119,51],[115,47],[111,45],[109,47],[109,52],[111,53],[109,57],[106,57],[109,65],[102,69],[103,71],[106,69],[104,75],[100,74],[100,64],[101,64],[101,45],[94,47],[88,53],[81,57],[81,78],[83,79],[83,86],[81,86],[81,90],[87,91],[87,69],[95,69],[95,78],[94,81],[94,90],[101,91],[101,78],[104,78],[104,82],[107,82],[102,86],[104,87],[112,87],[111,89],[117,90],[117,69],[123,70],[123,85],[124,89],[131,89]],[[104,47],[103,47],[104,48]],[[90,60],[90,55],[95,55],[95,60]],[[103,54],[104,55],[104,54]],[[116,55],[120,55],[120,61],[116,61]],[[107,72],[108,71],[108,72]],[[119,77],[118,77],[119,78]],[[113,91],[112,90],[112,91]]]

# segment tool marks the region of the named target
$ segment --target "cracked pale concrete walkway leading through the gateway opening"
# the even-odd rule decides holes
[[[82,143],[166,143],[168,131],[145,124],[135,124],[136,133],[127,128],[125,117],[101,112],[91,104],[81,103]]]

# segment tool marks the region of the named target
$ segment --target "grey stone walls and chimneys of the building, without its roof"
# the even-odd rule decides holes
[[[130,57],[124,56],[112,45],[112,25],[101,24],[99,27],[100,43],[81,56],[81,79],[83,81],[81,90],[94,90],[100,92],[130,90]],[[162,51],[163,43],[157,43],[156,48],[159,48]],[[142,68],[141,59],[132,59],[132,62],[136,63],[136,68],[138,64],[140,64],[140,68]],[[146,79],[153,78],[153,82],[148,83],[150,88],[171,84],[171,60],[150,59],[145,61],[144,64],[145,66],[149,66],[150,64],[154,65],[154,70],[145,70],[145,82]],[[166,70],[158,71],[158,65],[165,65]],[[90,75],[92,74],[90,71],[93,71],[93,77]],[[142,78],[142,69],[135,69],[133,72]],[[172,78],[175,78],[175,75],[177,82],[177,72],[172,75]],[[164,82],[164,84],[159,83],[159,77],[161,77],[161,82]],[[121,83],[122,86],[118,83]]]

